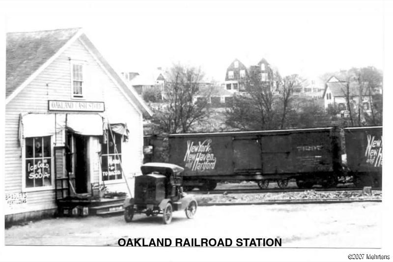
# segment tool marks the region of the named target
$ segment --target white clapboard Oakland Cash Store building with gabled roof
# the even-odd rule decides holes
[[[133,190],[152,113],[82,29],[7,33],[5,92],[6,222],[94,185],[128,192],[124,176]]]

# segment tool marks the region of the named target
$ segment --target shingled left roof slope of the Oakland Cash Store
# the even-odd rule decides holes
[[[7,33],[5,96],[53,57],[80,28]]]

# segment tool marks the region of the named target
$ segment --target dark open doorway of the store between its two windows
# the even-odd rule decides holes
[[[75,192],[88,192],[88,136],[66,132],[66,146],[70,149],[70,157],[66,158],[67,169],[71,171],[71,178],[75,181]]]

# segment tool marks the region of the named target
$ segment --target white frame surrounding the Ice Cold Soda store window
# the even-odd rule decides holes
[[[45,136],[41,136],[45,137]],[[50,186],[37,186],[37,187],[26,187],[26,138],[23,140],[22,146],[22,192],[36,192],[36,191],[46,191],[46,190],[54,190],[55,189],[55,175],[54,167],[55,167],[55,158],[53,151],[53,141],[55,136],[51,137],[51,185]]]

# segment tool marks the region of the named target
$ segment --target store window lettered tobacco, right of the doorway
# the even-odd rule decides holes
[[[108,131],[108,141],[106,144],[101,144],[101,170],[102,180],[121,179],[121,136],[116,133]],[[116,149],[116,150],[115,150]]]

